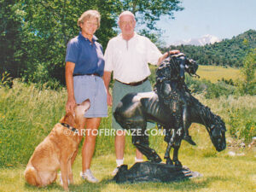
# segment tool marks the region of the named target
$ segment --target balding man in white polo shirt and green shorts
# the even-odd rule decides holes
[[[135,16],[130,11],[119,15],[119,28],[121,34],[108,42],[105,51],[105,68],[103,80],[108,92],[108,105],[112,110],[116,108],[119,101],[130,92],[152,91],[148,81],[150,70],[148,63],[160,65],[167,55],[179,53],[178,50],[169,51],[162,55],[160,50],[148,39],[134,32],[136,26]],[[108,87],[113,72],[113,102]],[[113,175],[118,172],[118,167],[124,163],[125,131],[112,118],[113,129],[116,129],[115,153],[117,168]],[[136,162],[143,161],[143,154],[137,149]]]

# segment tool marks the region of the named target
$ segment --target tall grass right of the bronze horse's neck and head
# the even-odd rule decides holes
[[[224,119],[231,137],[249,143],[256,136],[256,96],[220,96],[201,101]]]

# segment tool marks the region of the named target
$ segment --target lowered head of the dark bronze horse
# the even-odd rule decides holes
[[[224,121],[220,119],[218,115],[214,118],[211,127],[207,127],[207,131],[212,140],[212,144],[218,151],[222,151],[226,148],[225,131],[226,126]]]

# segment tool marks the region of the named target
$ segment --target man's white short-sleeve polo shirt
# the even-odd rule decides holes
[[[113,72],[113,79],[125,84],[138,82],[150,75],[148,63],[156,65],[161,55],[148,38],[135,33],[127,41],[119,34],[108,42],[104,71]]]

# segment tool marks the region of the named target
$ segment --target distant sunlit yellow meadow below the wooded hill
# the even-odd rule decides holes
[[[236,80],[240,76],[239,69],[231,67],[220,67],[220,66],[199,66],[197,74],[201,79],[210,80],[212,83],[216,83],[218,79],[232,79]]]

